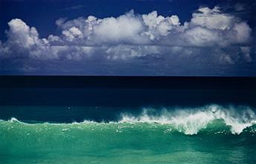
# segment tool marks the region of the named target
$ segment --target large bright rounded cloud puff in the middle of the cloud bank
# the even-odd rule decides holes
[[[91,41],[104,44],[140,44],[143,24],[133,11],[118,18],[104,18],[93,26]]]

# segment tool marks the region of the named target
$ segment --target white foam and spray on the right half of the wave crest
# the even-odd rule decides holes
[[[153,114],[152,114],[153,113]],[[168,111],[162,109],[157,115],[154,109],[144,109],[142,114],[135,117],[123,114],[119,123],[160,123],[170,124],[177,131],[185,134],[197,134],[201,129],[206,129],[213,120],[223,120],[226,126],[231,127],[233,134],[240,134],[243,129],[256,123],[255,112],[249,107],[240,109],[224,108],[223,106],[211,105],[197,109],[177,109]]]

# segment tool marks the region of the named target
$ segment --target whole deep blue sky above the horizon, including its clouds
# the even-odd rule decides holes
[[[0,75],[256,76],[255,8],[255,0],[0,0]]]

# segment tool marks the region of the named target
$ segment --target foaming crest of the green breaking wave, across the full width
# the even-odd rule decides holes
[[[85,120],[82,123],[22,123],[16,118],[0,121],[3,123],[21,123],[23,125],[58,126],[59,129],[79,127],[87,130],[114,130],[122,132],[124,129],[152,129],[157,127],[166,131],[179,131],[183,134],[198,134],[200,131],[229,131],[232,134],[241,134],[245,129],[256,131],[256,115],[252,108],[247,106],[218,105],[203,106],[186,109],[142,109],[140,114],[122,113],[119,120],[110,122],[95,122]],[[100,128],[99,128],[100,127]],[[121,127],[121,128],[120,128]],[[38,129],[38,128],[37,128]]]

